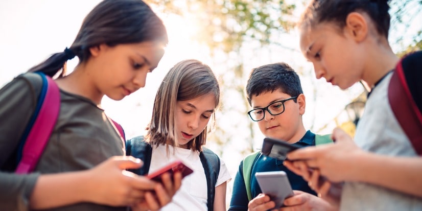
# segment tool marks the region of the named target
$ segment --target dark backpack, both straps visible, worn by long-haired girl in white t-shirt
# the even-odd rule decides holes
[[[126,155],[131,155],[144,161],[144,165],[141,168],[131,169],[129,171],[138,175],[148,174],[151,164],[152,147],[144,141],[144,136],[136,136],[126,140]],[[208,210],[214,210],[216,183],[220,173],[220,158],[213,151],[202,147],[202,152],[199,153],[199,159],[204,168],[206,185],[208,187],[207,207]]]

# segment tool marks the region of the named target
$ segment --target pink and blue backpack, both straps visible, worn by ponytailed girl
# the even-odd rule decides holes
[[[35,169],[53,132],[60,111],[60,89],[56,82],[43,73],[36,74],[41,76],[42,87],[35,111],[19,141],[17,148],[18,164],[15,169],[17,174],[30,173]],[[111,122],[124,140],[125,133],[122,126],[113,120]]]

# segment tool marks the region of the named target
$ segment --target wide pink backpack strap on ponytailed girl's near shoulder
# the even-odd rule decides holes
[[[45,97],[39,99],[43,102],[22,149],[22,158],[15,170],[18,174],[29,173],[35,169],[59,115],[59,87],[49,76],[42,73],[38,74],[42,77],[43,85],[47,84],[47,90]]]

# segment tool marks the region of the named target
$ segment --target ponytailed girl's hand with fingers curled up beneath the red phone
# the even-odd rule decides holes
[[[179,190],[182,181],[182,174],[176,172],[172,178],[169,173],[161,176],[162,184],[157,184],[154,188],[155,192],[145,193],[145,200],[132,205],[132,210],[158,210],[172,201],[172,197]]]

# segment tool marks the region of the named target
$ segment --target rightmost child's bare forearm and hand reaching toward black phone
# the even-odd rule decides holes
[[[422,158],[392,157],[365,152],[341,129],[333,131],[336,143],[308,147],[289,153],[290,160],[305,160],[310,168],[332,182],[359,181],[387,187],[394,191],[422,197]],[[289,169],[295,166],[293,161]],[[341,170],[341,171],[339,171]],[[293,171],[293,170],[292,170]],[[310,180],[307,170],[302,175]]]

